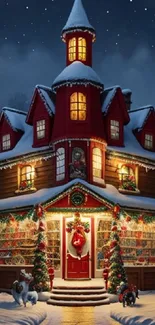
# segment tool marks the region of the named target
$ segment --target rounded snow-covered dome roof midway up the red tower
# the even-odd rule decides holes
[[[97,73],[89,66],[80,61],[68,65],[53,82],[53,89],[66,84],[89,84],[98,85],[103,88],[102,81]]]

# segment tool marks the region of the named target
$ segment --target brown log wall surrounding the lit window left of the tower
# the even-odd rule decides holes
[[[29,163],[30,164],[30,163]],[[18,189],[18,166],[0,170],[0,199],[29,194],[23,191],[16,194]],[[34,186],[37,190],[52,187],[55,184],[55,157],[35,163]]]

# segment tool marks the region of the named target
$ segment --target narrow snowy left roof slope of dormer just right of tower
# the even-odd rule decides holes
[[[112,102],[118,88],[120,88],[120,86],[113,86],[113,87],[104,89],[103,104],[102,104],[102,112],[104,114],[106,114],[108,112],[108,108],[111,105],[111,102]]]

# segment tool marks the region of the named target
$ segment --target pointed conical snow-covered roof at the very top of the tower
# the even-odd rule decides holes
[[[87,14],[82,4],[82,0],[75,0],[67,23],[62,30],[62,34],[79,29],[88,30],[93,33],[95,32],[94,27],[88,20]]]

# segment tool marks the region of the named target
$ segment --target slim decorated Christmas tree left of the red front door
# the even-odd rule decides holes
[[[50,278],[47,267],[46,256],[46,224],[43,208],[38,206],[36,215],[39,218],[37,247],[35,250],[34,267],[32,275],[34,278],[34,287],[37,292],[50,291]]]

